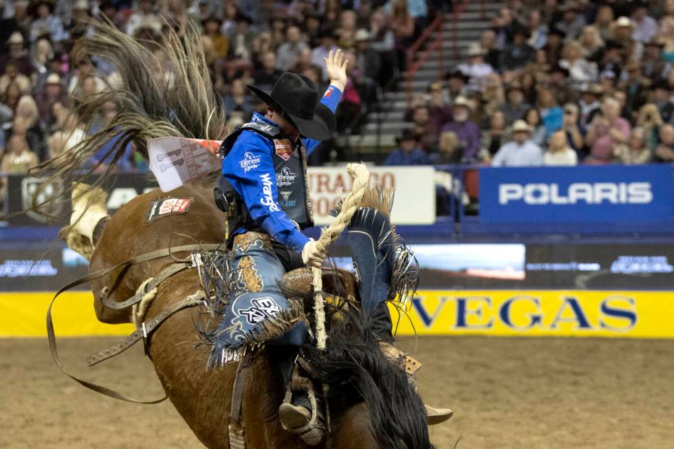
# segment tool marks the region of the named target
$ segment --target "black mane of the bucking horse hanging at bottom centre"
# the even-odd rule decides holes
[[[339,315],[325,351],[303,349],[314,373],[328,386],[330,402],[365,402],[382,448],[433,448],[424,404],[408,375],[384,356],[367,320],[364,324],[354,311],[340,310]]]

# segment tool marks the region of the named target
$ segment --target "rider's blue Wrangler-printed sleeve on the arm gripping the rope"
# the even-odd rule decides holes
[[[276,173],[270,154],[272,141],[252,131],[243,131],[224,159],[222,173],[238,186],[243,203],[254,221],[274,240],[296,252],[309,241],[276,201]]]

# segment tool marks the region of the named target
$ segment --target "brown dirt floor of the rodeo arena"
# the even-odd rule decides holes
[[[141,348],[87,369],[113,338],[61,339],[67,366],[129,395],[162,388]],[[406,350],[413,341],[403,342]],[[672,448],[674,342],[420,338],[422,396],[455,417],[437,448]],[[170,403],[142,406],[88,391],[52,363],[46,340],[0,340],[0,448],[199,448]]]

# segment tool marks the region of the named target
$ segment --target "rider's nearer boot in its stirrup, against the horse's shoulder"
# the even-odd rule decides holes
[[[285,430],[299,435],[308,446],[316,446],[325,436],[325,419],[314,384],[301,371],[304,370],[296,364],[279,407],[279,420]]]

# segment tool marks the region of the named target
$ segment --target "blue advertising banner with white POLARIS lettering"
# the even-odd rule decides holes
[[[500,223],[663,223],[674,219],[668,164],[480,168],[479,219]]]

